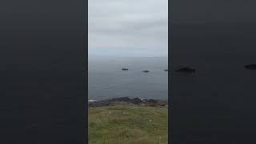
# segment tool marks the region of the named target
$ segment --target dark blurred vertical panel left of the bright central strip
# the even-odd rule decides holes
[[[0,143],[86,143],[85,6],[0,2]]]

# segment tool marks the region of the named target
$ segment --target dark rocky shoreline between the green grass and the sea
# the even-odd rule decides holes
[[[128,104],[128,105],[138,105],[138,106],[168,106],[168,102],[165,100],[157,99],[140,99],[140,98],[110,98],[100,101],[90,101],[88,102],[89,107],[98,107],[98,106],[114,106],[118,104]]]

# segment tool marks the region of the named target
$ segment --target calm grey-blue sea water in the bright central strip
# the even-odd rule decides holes
[[[89,58],[89,99],[168,96],[168,58]],[[122,70],[128,68],[129,70]],[[149,70],[150,73],[143,73]]]

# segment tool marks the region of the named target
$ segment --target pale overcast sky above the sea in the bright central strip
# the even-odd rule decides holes
[[[167,53],[168,0],[89,0],[89,57]]]

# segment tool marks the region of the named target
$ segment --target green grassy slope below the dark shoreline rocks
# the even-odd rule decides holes
[[[89,144],[166,144],[167,114],[167,107],[90,107]]]

